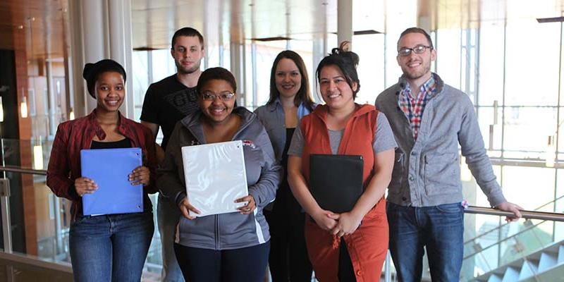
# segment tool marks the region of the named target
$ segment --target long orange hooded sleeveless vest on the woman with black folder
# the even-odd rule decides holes
[[[302,152],[302,173],[309,182],[309,155],[332,154],[329,131],[326,126],[328,108],[319,105],[312,114],[302,118],[301,130],[304,137]],[[374,174],[374,133],[378,111],[372,105],[356,104],[355,113],[345,126],[338,154],[361,155],[364,159],[363,183],[368,185]],[[309,259],[315,276],[321,282],[338,281],[339,240],[319,228],[307,216],[305,240]],[[344,237],[350,259],[353,262],[357,282],[379,281],[382,264],[388,250],[388,221],[384,197],[364,216],[357,230]]]

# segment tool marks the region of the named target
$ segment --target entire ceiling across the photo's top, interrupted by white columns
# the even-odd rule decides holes
[[[63,58],[68,1],[96,0],[1,0],[0,48],[25,45],[28,58]],[[184,26],[200,30],[212,44],[268,37],[314,39],[337,30],[337,0],[130,1],[133,48],[168,48],[173,32]],[[390,20],[434,30],[477,27],[484,20],[557,17],[564,10],[564,0],[350,1],[353,30],[378,32],[389,30]]]

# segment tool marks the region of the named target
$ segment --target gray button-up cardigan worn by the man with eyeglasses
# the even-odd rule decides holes
[[[427,101],[417,140],[413,139],[410,121],[398,106],[398,95],[407,80],[400,78],[376,98],[376,109],[388,118],[398,143],[388,201],[413,207],[461,202],[460,144],[462,156],[491,206],[505,202],[470,98],[444,84],[439,75],[433,75],[436,94]]]

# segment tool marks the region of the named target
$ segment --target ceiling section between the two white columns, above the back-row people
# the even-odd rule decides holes
[[[336,0],[133,0],[132,18],[137,48],[167,48],[173,32],[184,26],[195,27],[213,43],[311,39],[326,31],[326,21],[336,27]]]

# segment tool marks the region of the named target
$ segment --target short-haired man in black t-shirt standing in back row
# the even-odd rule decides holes
[[[151,129],[155,137],[159,127],[163,131],[163,142],[157,147],[159,162],[164,159],[164,149],[176,122],[199,109],[196,84],[202,73],[204,37],[191,27],[183,27],[174,33],[171,46],[177,73],[149,86],[141,111],[141,123]],[[184,281],[173,248],[179,216],[176,203],[159,195],[157,223],[163,256],[161,281]]]

